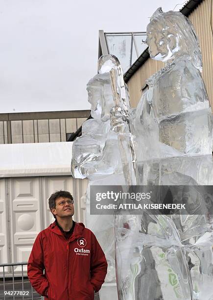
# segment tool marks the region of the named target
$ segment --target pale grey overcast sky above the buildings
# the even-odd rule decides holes
[[[145,31],[179,2],[0,0],[0,113],[89,109],[98,30]]]

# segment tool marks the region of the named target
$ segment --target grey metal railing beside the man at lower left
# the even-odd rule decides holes
[[[21,274],[14,271],[15,266],[21,266]],[[31,286],[24,266],[27,262],[0,264],[0,300],[44,300]],[[5,271],[5,268],[8,270]]]

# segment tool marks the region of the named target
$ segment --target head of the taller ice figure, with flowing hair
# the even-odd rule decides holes
[[[187,55],[194,66],[202,69],[198,38],[191,22],[181,12],[163,12],[158,8],[147,25],[146,44],[152,59],[173,61]]]

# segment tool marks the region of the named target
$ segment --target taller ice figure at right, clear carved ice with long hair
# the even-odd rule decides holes
[[[211,109],[193,26],[180,12],[159,8],[146,42],[151,58],[166,66],[147,80],[133,119],[137,184],[209,185]],[[213,299],[213,222],[210,215],[192,213],[192,204],[204,195],[186,187],[182,197],[191,203],[189,215],[144,212],[126,228],[123,217],[117,218],[119,299]]]

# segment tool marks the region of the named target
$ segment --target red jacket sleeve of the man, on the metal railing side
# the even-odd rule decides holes
[[[40,232],[33,244],[27,265],[27,275],[32,287],[42,296],[47,296],[48,281],[44,275],[44,254],[42,233]]]

